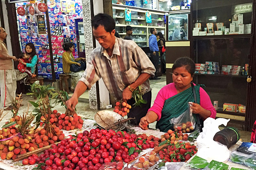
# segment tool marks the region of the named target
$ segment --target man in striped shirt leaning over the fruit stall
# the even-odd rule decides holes
[[[139,124],[140,118],[147,114],[151,106],[149,77],[154,77],[154,65],[142,49],[133,41],[115,37],[115,21],[107,14],[97,14],[92,19],[92,33],[100,47],[92,51],[83,77],[76,85],[73,96],[67,101],[71,112],[75,111],[78,97],[87,88],[91,88],[100,78],[103,79],[109,93],[116,99],[132,105],[133,91],[141,85],[147,101],[142,107],[132,107],[128,117],[135,117],[133,124]]]

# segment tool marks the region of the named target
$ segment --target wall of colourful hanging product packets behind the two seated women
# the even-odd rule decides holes
[[[32,42],[36,47],[39,64],[44,63],[49,66],[51,65],[50,49],[45,15],[45,9],[48,7],[53,59],[54,63],[58,63],[58,69],[55,71],[61,72],[64,40],[75,44],[73,56],[78,56],[75,19],[82,19],[83,16],[81,0],[47,0],[47,5],[40,1],[18,2],[16,7],[22,51],[25,52],[26,44]],[[49,68],[47,72],[44,69],[38,69],[38,72],[49,78],[51,77]]]

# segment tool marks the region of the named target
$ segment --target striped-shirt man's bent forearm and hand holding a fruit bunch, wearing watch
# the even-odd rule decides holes
[[[137,88],[140,86],[142,83],[146,82],[147,79],[149,79],[151,75],[148,73],[141,73],[140,76],[137,78],[135,82],[130,84],[131,88]],[[126,102],[126,100],[129,100],[132,98],[133,92],[130,91],[128,86],[123,90],[123,100]]]

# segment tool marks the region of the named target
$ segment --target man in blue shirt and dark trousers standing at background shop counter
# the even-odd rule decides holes
[[[157,72],[158,63],[159,63],[159,48],[157,46],[157,40],[156,40],[156,35],[157,35],[156,28],[151,28],[150,33],[152,34],[149,37],[149,49],[150,49],[150,56],[151,56],[150,60],[152,61],[153,65],[155,66],[156,72]],[[156,77],[156,72],[155,72],[155,76],[153,78],[151,78],[151,80],[161,79],[161,78]]]

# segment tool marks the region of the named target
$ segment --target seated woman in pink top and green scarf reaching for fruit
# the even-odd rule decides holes
[[[215,118],[214,109],[209,95],[200,86],[194,84],[197,103],[194,103],[194,95],[191,87],[195,64],[190,58],[178,58],[173,64],[173,83],[161,88],[156,96],[154,105],[148,110],[147,115],[140,119],[139,126],[147,129],[149,123],[157,121],[156,128],[162,132],[173,129],[170,119],[180,116],[187,109],[188,102],[193,102],[193,116],[199,114],[200,121],[206,118]]]

